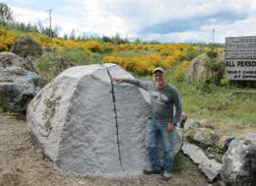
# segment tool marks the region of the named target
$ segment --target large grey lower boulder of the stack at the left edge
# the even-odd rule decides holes
[[[28,103],[43,86],[42,78],[31,71],[21,67],[0,67],[0,107],[25,113]]]

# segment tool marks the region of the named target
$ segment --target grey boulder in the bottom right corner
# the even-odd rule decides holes
[[[232,140],[223,164],[221,176],[226,185],[256,185],[256,132]]]

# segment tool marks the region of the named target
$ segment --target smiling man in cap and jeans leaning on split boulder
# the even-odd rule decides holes
[[[162,179],[167,181],[173,170],[173,130],[179,122],[182,106],[179,93],[177,90],[164,81],[164,71],[158,67],[153,71],[154,81],[142,81],[134,79],[112,80],[117,83],[129,83],[138,86],[150,93],[151,113],[152,116],[148,122],[148,151],[151,160],[151,169],[145,169],[145,174],[160,174],[161,165],[157,155],[158,137],[162,138],[164,147],[164,164]],[[175,106],[175,115],[173,114],[173,105]]]

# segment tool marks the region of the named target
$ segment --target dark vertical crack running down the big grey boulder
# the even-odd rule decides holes
[[[120,166],[121,166],[123,172],[125,172],[124,166],[123,166],[123,162],[122,162],[122,157],[121,157],[121,150],[120,150],[118,121],[117,121],[117,112],[116,112],[116,105],[115,105],[114,85],[113,85],[112,77],[110,75],[110,72],[109,72],[108,68],[106,68],[106,72],[107,72],[107,74],[108,74],[108,76],[110,78],[110,83],[111,83],[111,94],[112,94],[114,114],[115,114],[116,140],[117,140],[117,147],[118,147],[119,162],[120,162]]]

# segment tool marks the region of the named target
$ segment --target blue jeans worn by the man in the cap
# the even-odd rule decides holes
[[[159,135],[163,142],[164,161],[163,168],[167,172],[172,172],[173,169],[173,132],[166,130],[167,122],[159,122],[156,118],[150,118],[148,122],[148,151],[152,167],[160,169],[160,159],[157,155],[157,144]]]

